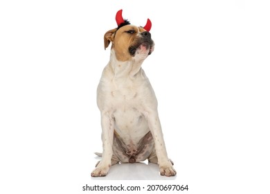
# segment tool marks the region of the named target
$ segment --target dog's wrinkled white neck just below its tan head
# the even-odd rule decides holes
[[[141,64],[143,64],[144,58],[134,57],[132,60],[119,61],[116,58],[114,49],[111,49],[111,58],[109,66],[114,72],[114,78],[129,77],[134,78],[138,73],[141,73]]]

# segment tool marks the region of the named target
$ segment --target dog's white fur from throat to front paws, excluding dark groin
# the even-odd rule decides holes
[[[116,59],[114,49],[111,49],[110,61],[98,85],[97,102],[101,113],[103,152],[100,163],[91,173],[93,177],[107,175],[113,155],[114,130],[126,144],[130,139],[138,143],[150,130],[162,175],[176,173],[165,149],[156,96],[141,68],[148,53],[149,48],[143,47],[136,51],[132,60],[120,62]],[[136,123],[138,118],[143,120],[140,125]]]

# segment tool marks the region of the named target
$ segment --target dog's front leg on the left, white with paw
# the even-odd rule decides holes
[[[111,157],[113,155],[112,145],[114,140],[114,119],[108,112],[101,113],[102,127],[102,159],[96,169],[91,173],[92,177],[104,177],[111,166]]]

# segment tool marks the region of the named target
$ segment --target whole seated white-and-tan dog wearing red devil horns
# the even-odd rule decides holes
[[[159,164],[160,174],[174,176],[176,171],[168,159],[157,101],[141,64],[154,51],[149,33],[151,21],[145,27],[130,25],[116,14],[118,28],[105,33],[105,48],[111,46],[109,63],[98,85],[98,108],[101,113],[102,159],[91,173],[93,177],[107,175],[111,165],[148,161]]]

